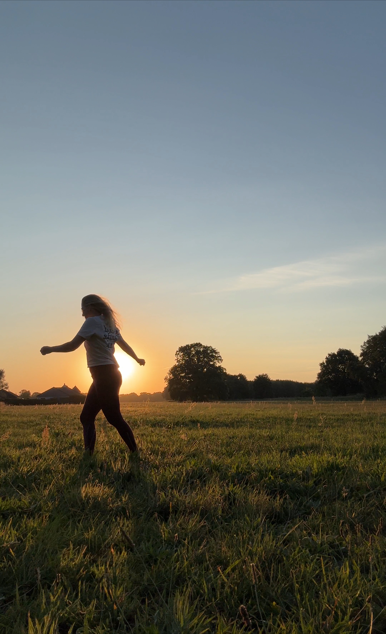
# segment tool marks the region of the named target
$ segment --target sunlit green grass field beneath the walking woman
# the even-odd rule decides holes
[[[0,406],[1,633],[386,632],[386,403],[80,410]]]

